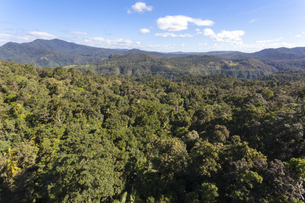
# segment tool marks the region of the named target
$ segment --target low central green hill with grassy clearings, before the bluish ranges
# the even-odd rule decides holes
[[[277,72],[272,66],[256,59],[226,60],[217,56],[189,55],[183,57],[161,58],[146,53],[111,55],[109,59],[85,64],[70,65],[80,71],[92,71],[101,75],[162,75],[175,78],[186,74],[229,74],[237,78],[253,79]]]

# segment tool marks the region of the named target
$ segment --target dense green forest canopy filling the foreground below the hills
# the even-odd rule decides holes
[[[304,71],[169,79],[0,60],[0,112],[2,203],[305,202]]]

